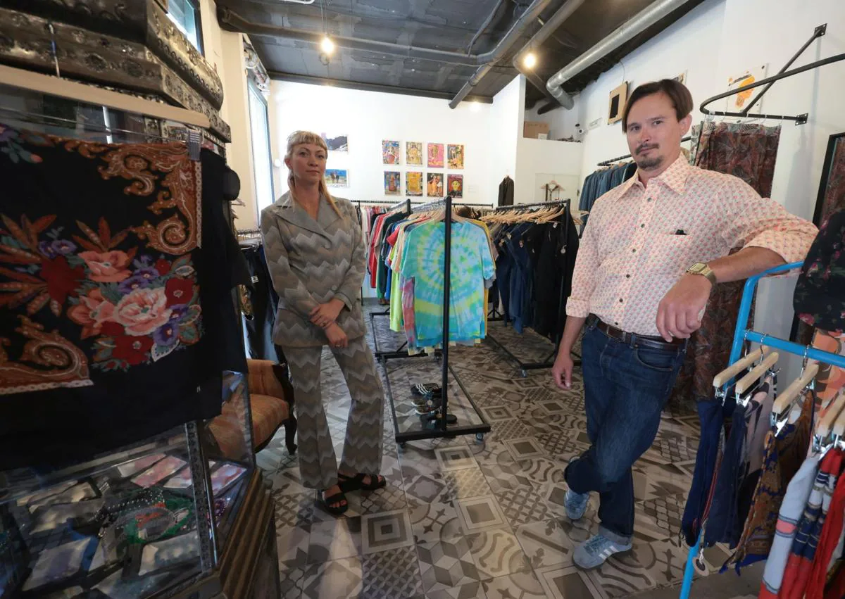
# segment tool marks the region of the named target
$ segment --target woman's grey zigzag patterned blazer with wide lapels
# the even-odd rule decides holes
[[[321,198],[315,221],[285,193],[261,211],[261,237],[276,293],[273,340],[282,347],[328,344],[308,314],[320,303],[341,300],[337,324],[349,339],[364,335],[361,284],[367,270],[361,227],[352,203],[335,198],[343,218]]]

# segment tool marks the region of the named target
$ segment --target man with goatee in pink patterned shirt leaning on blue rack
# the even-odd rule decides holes
[[[578,520],[597,492],[602,525],[575,550],[581,568],[631,547],[631,466],[657,435],[712,286],[802,260],[816,234],[738,177],[690,166],[680,140],[692,107],[678,81],[634,90],[622,126],[636,176],[597,199],[575,261],[552,373],[570,388],[570,354],[586,323],[581,370],[591,447],[567,466],[565,507]]]

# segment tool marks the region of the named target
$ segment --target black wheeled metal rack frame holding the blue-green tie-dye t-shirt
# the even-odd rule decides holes
[[[394,429],[396,431],[396,443],[400,444],[401,447],[404,447],[407,441],[418,441],[427,438],[441,438],[441,437],[454,437],[456,435],[466,435],[466,434],[475,434],[476,438],[481,441],[484,438],[484,433],[490,432],[490,425],[482,416],[482,413],[478,411],[478,407],[475,405],[475,402],[472,400],[472,396],[466,390],[464,385],[461,383],[461,379],[458,378],[457,374],[451,371],[449,365],[449,311],[450,311],[450,286],[451,286],[451,260],[452,260],[452,198],[451,196],[446,196],[444,199],[439,199],[433,202],[428,202],[427,204],[419,204],[414,206],[412,212],[426,212],[428,210],[432,210],[433,208],[438,208],[439,206],[443,206],[445,209],[444,215],[444,281],[443,281],[443,342],[442,347],[440,349],[440,356],[441,356],[441,366],[442,366],[442,378],[440,382],[440,408],[439,408],[439,415],[438,417],[433,418],[433,427],[428,428],[421,428],[419,430],[411,430],[411,431],[400,431],[399,430],[399,422],[396,419],[396,406],[393,400],[393,389],[390,388],[390,375],[387,372],[387,360],[390,357],[407,357],[407,351],[405,352],[405,356],[382,356],[381,357],[381,364],[384,368],[384,381],[385,381],[385,389],[387,391],[388,399],[390,400],[390,411],[393,414],[393,424]],[[457,426],[450,426],[449,417],[449,374],[455,378],[455,382],[461,387],[461,390],[466,395],[466,399],[469,401],[470,406],[472,406],[472,410],[475,411],[476,416],[481,421],[481,424],[466,424],[466,425],[457,425]],[[457,419],[452,416],[452,422],[457,422]]]

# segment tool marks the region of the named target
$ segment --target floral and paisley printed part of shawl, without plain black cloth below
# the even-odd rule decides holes
[[[197,343],[199,162],[0,125],[0,395],[94,384]]]

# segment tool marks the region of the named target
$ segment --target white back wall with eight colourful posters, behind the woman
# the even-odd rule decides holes
[[[348,188],[331,188],[337,196],[393,203],[406,198],[405,172],[422,171],[461,174],[463,201],[495,203],[502,176],[497,178],[490,167],[499,150],[488,143],[491,105],[464,102],[452,110],[445,100],[287,81],[273,81],[270,89],[270,145],[275,158],[284,156],[287,136],[297,129],[348,136],[349,151],[329,155],[329,168],[345,168],[349,172]],[[401,164],[382,164],[383,139],[401,142]],[[423,162],[429,142],[463,144],[464,168],[409,166],[405,156],[407,141],[423,142]],[[279,196],[287,191],[287,168],[282,165],[274,170]],[[385,171],[402,173],[402,195],[384,194]],[[424,183],[423,176],[423,187]]]

